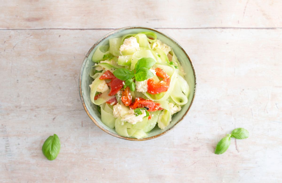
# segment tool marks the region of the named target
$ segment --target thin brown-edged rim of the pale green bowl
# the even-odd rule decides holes
[[[85,105],[85,102],[83,100],[83,97],[82,97],[82,90],[81,90],[81,76],[82,76],[82,72],[83,72],[83,69],[84,69],[84,66],[86,64],[86,60],[87,60],[87,57],[89,56],[90,52],[104,39],[106,39],[107,37],[109,37],[110,35],[113,35],[113,34],[116,34],[118,32],[122,32],[124,30],[127,30],[127,29],[136,29],[136,28],[141,28],[141,29],[147,29],[147,30],[152,30],[152,31],[155,31],[155,32],[158,32],[159,34],[162,34],[164,35],[165,37],[167,37],[168,39],[170,39],[171,41],[173,41],[175,44],[177,44],[177,46],[185,53],[186,57],[188,58],[188,60],[190,61],[190,64],[191,64],[191,67],[192,67],[192,70],[193,70],[193,75],[194,75],[194,82],[195,82],[195,86],[194,86],[194,94],[193,94],[193,98],[191,100],[191,103],[188,107],[188,109],[186,110],[186,112],[184,113],[184,115],[171,127],[169,128],[168,130],[158,134],[158,135],[154,135],[152,137],[146,137],[146,138],[142,138],[142,139],[136,139],[136,138],[129,138],[129,137],[123,137],[121,135],[118,135],[116,133],[113,133],[107,129],[104,129],[102,125],[100,125],[95,119],[94,117],[89,113],[89,111],[87,110],[87,107]],[[132,140],[132,141],[143,141],[143,140],[150,140],[150,139],[155,139],[157,137],[160,137],[166,133],[168,133],[169,131],[173,130],[176,126],[178,126],[180,124],[180,122],[184,119],[184,117],[187,115],[188,111],[190,110],[192,104],[193,104],[193,101],[195,99],[195,96],[196,96],[196,91],[197,91],[197,79],[196,79],[196,72],[195,72],[195,67],[194,67],[194,64],[192,62],[192,60],[190,59],[189,55],[186,53],[186,51],[184,50],[184,48],[175,40],[173,39],[172,37],[170,37],[169,35],[163,33],[163,32],[160,32],[154,28],[149,28],[149,27],[144,27],[144,26],[128,26],[128,27],[122,27],[122,28],[119,28],[119,29],[115,29],[113,30],[112,32],[109,32],[108,34],[104,35],[102,38],[100,38],[91,48],[90,50],[87,52],[87,54],[85,55],[85,58],[81,64],[81,68],[80,68],[80,75],[79,75],[79,95],[80,95],[80,100],[81,100],[81,103],[83,105],[83,108],[85,110],[85,112],[87,113],[88,117],[94,122],[94,124],[96,124],[96,126],[98,126],[101,130],[105,131],[106,133],[114,136],[114,137],[118,137],[120,139],[125,139],[125,140]]]

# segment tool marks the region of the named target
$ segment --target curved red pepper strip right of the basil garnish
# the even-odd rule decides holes
[[[161,92],[168,91],[169,84],[170,84],[169,75],[167,73],[165,73],[160,68],[155,68],[155,71],[156,71],[156,75],[158,77],[163,78],[163,80],[156,83],[153,78],[148,79],[148,82],[147,82],[148,90],[147,90],[147,92],[151,93],[151,94],[158,94],[158,93],[161,93]]]

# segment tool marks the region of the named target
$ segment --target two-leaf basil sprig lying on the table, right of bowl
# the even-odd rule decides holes
[[[234,137],[235,139],[246,139],[249,137],[249,132],[244,128],[236,128],[231,134],[227,134],[226,137],[217,143],[214,152],[215,154],[222,154],[229,148],[231,142],[230,137]]]

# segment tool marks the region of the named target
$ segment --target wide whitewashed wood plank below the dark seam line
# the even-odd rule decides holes
[[[190,54],[198,90],[177,128],[144,142],[103,132],[79,99],[81,62],[111,30],[1,31],[1,182],[280,182],[281,31],[160,30]],[[213,154],[238,127],[250,137]],[[53,133],[61,152],[49,161]]]

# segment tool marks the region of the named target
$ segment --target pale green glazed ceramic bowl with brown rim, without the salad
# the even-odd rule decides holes
[[[109,39],[110,38],[115,38],[115,37],[122,37],[125,34],[135,34],[138,32],[155,32],[157,34],[157,39],[160,39],[163,43],[169,45],[176,56],[178,57],[178,60],[182,67],[184,68],[184,72],[186,73],[185,75],[185,80],[188,82],[190,86],[190,95],[188,97],[188,103],[182,106],[182,110],[177,113],[177,115],[172,117],[172,121],[170,124],[164,129],[161,130],[156,127],[151,130],[146,138],[143,139],[135,139],[131,137],[122,137],[118,135],[115,131],[115,129],[110,129],[108,128],[103,122],[101,121],[101,115],[97,111],[97,107],[91,102],[90,100],[90,87],[89,84],[92,83],[93,79],[89,76],[89,72],[94,65],[94,63],[91,61],[93,53],[96,51],[98,46],[100,45],[105,45],[109,44]],[[80,99],[82,102],[82,105],[87,113],[87,115],[90,117],[90,119],[103,131],[109,133],[110,135],[113,135],[114,137],[118,137],[120,139],[126,139],[126,140],[149,140],[149,139],[154,139],[157,137],[160,137],[169,131],[171,131],[173,128],[175,128],[180,121],[186,116],[188,113],[189,109],[191,108],[191,105],[195,99],[195,94],[196,94],[196,73],[195,69],[193,66],[193,63],[188,56],[188,54],[184,51],[182,46],[175,41],[172,37],[169,35],[166,35],[158,30],[152,29],[152,28],[147,28],[147,27],[141,27],[141,26],[131,26],[131,27],[124,27],[120,28],[118,30],[114,30],[113,32],[110,32],[109,34],[106,34],[103,36],[101,39],[99,39],[89,50],[87,55],[85,56],[83,63],[81,65],[80,69],[80,76],[79,76],[79,91],[80,91]]]

